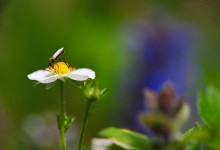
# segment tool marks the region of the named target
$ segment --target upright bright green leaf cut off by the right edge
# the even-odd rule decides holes
[[[206,92],[199,93],[199,115],[205,124],[220,135],[220,90],[209,86]]]

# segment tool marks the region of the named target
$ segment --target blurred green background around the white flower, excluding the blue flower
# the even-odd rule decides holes
[[[123,83],[132,81],[126,70],[132,70],[138,59],[126,50],[123,27],[127,22],[138,22],[157,7],[197,26],[203,41],[194,59],[200,68],[198,86],[220,85],[218,0],[1,0],[0,149],[58,149],[56,138],[55,142],[41,145],[29,133],[32,124],[38,126],[34,122],[37,119],[55,128],[58,85],[50,90],[43,85],[33,87],[27,74],[46,68],[60,47],[65,48],[64,57],[69,64],[95,70],[100,87],[109,91],[95,106],[86,143],[89,145],[99,130],[120,126],[118,120],[123,121],[120,114],[126,107],[126,96],[119,96],[120,90],[126,89]],[[76,87],[67,84],[65,88],[67,113],[76,117],[70,130],[74,137],[70,136],[68,142],[72,146],[77,142],[85,99]]]

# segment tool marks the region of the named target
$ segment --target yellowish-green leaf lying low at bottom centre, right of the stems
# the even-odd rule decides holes
[[[132,150],[150,150],[150,139],[143,134],[133,132],[127,129],[118,129],[115,127],[109,127],[100,132],[101,136],[110,138],[114,141],[114,144],[124,148]]]

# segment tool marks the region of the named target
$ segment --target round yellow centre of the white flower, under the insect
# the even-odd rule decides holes
[[[54,64],[54,72],[56,74],[67,74],[69,71],[69,66],[65,62],[57,62]]]

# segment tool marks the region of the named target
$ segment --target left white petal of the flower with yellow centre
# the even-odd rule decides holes
[[[46,70],[38,70],[35,71],[31,74],[28,75],[28,78],[30,80],[36,80],[40,83],[51,83],[56,81],[59,76],[58,75],[53,75],[52,73],[50,73],[49,71]]]

